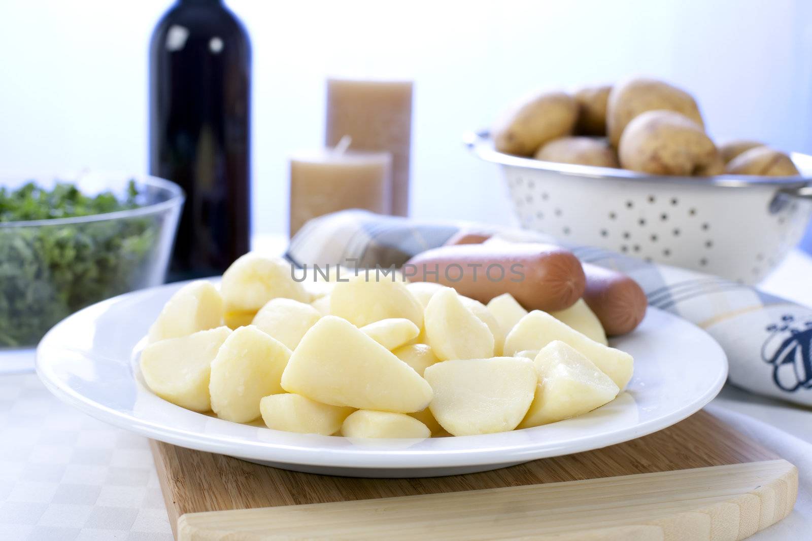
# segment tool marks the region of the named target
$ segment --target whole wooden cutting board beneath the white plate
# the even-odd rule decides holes
[[[605,449],[479,474],[301,474],[152,442],[176,539],[745,539],[797,470],[700,411]]]

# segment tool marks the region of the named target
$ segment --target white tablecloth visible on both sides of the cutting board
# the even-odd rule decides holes
[[[255,241],[283,246],[278,236]],[[812,259],[793,252],[762,287],[812,305],[810,276]],[[147,440],[63,406],[31,366],[31,352],[0,352],[0,539],[172,539]],[[806,539],[812,412],[730,387],[709,409],[801,473],[793,513],[751,539]]]

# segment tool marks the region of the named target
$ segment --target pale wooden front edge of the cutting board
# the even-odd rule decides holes
[[[745,539],[786,517],[784,460],[330,504],[188,513],[200,539]]]

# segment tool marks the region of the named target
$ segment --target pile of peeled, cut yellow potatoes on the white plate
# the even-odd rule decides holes
[[[351,438],[470,436],[535,427],[613,400],[631,355],[583,301],[555,315],[510,294],[486,305],[397,273],[296,281],[248,254],[218,290],[178,290],[149,329],[153,393],[220,419]]]

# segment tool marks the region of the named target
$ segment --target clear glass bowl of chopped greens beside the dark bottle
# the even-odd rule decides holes
[[[0,349],[34,346],[58,323],[105,298],[164,281],[184,192],[173,182],[121,174],[0,178],[83,195],[137,191],[137,208],[84,217],[0,222]]]

